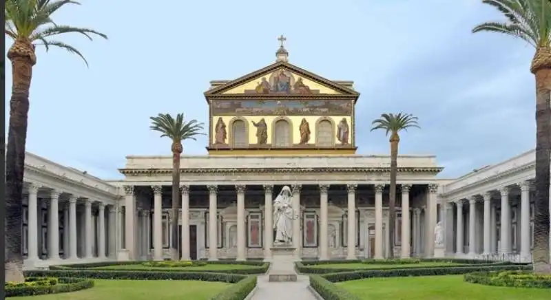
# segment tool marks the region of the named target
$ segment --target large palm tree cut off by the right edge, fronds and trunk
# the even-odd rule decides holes
[[[505,22],[488,22],[472,29],[497,32],[528,42],[535,48],[530,72],[536,77],[536,197],[534,200],[534,272],[551,274],[549,261],[549,180],[551,164],[551,1],[484,0],[497,8]]]

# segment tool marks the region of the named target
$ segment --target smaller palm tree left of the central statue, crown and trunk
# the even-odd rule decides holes
[[[170,150],[172,151],[172,249],[174,251],[173,259],[178,259],[180,244],[178,243],[178,208],[180,201],[180,155],[184,151],[183,140],[196,140],[196,136],[205,135],[200,131],[203,129],[203,123],[197,120],[189,122],[184,121],[184,114],[178,114],[174,119],[170,114],[158,114],[156,117],[149,117],[152,121],[153,131],[162,133],[161,138],[168,137],[172,140]]]

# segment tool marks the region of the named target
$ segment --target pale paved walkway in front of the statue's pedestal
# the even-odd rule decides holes
[[[251,300],[315,300],[308,290],[307,276],[298,275],[296,282],[268,282],[267,275],[258,276],[258,290]]]

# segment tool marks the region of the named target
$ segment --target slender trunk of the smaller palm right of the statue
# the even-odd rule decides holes
[[[388,195],[388,258],[394,258],[394,235],[396,219],[396,176],[398,172],[398,133],[391,136],[391,189]]]

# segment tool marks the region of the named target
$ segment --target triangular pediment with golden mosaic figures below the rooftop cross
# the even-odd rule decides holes
[[[274,63],[205,92],[205,96],[235,94],[359,96],[351,87],[285,62]]]

